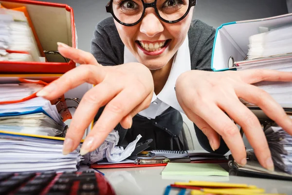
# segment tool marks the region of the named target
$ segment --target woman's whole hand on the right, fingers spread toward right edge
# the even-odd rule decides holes
[[[260,81],[292,81],[292,73],[272,70],[192,70],[177,79],[176,95],[186,116],[208,137],[213,150],[219,148],[221,136],[234,159],[241,165],[246,164],[245,146],[232,118],[242,127],[260,164],[274,170],[271,152],[259,120],[239,98],[259,106],[290,134],[292,120],[267,92],[252,85]]]

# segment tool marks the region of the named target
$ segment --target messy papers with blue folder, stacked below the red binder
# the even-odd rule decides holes
[[[0,103],[21,100],[43,87],[35,83],[0,84]],[[0,130],[42,136],[64,137],[66,124],[56,105],[44,98],[0,104]]]

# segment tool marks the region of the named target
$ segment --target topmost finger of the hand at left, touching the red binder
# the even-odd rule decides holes
[[[85,52],[80,49],[75,49],[66,45],[65,43],[57,42],[58,44],[58,51],[60,54],[65,57],[72,59],[74,62],[78,64],[92,64],[92,65],[100,65],[94,56],[89,53]]]

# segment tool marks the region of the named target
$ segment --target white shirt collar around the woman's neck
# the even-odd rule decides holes
[[[135,59],[133,54],[125,46],[124,63],[128,63],[128,62],[138,62],[138,60]],[[153,93],[151,102],[155,101],[158,98],[164,103],[166,103],[167,105],[175,108],[176,110],[180,112],[183,112],[183,109],[181,108],[177,100],[174,88],[175,88],[175,83],[176,83],[177,78],[182,73],[189,70],[191,70],[191,58],[190,58],[188,37],[186,36],[186,38],[183,41],[182,46],[178,49],[177,53],[174,56],[170,74],[167,78],[164,88],[157,96],[155,93]],[[151,118],[153,118],[153,116]]]

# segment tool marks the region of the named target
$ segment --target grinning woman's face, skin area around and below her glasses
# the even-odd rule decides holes
[[[127,1],[130,0],[123,1],[123,5],[126,6]],[[145,3],[153,1],[144,0]],[[173,1],[180,3],[182,0],[164,1],[168,5],[173,5]],[[173,24],[160,20],[154,8],[146,8],[140,23],[125,26],[115,21],[115,25],[123,43],[134,57],[150,70],[157,70],[164,67],[183,44],[192,20],[193,9],[194,7],[191,7],[183,20]]]

